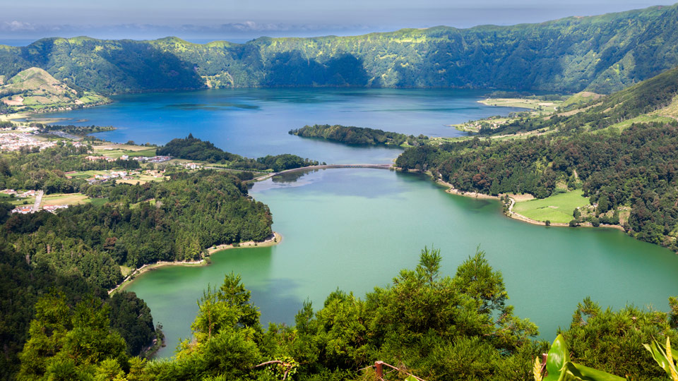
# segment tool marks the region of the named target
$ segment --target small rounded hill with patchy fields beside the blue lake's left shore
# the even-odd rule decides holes
[[[11,111],[82,107],[107,101],[80,87],[73,89],[41,68],[28,68],[0,85],[0,102]]]

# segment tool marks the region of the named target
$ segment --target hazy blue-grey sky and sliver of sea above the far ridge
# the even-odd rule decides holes
[[[360,35],[401,28],[540,23],[628,11],[662,0],[2,0],[0,39],[41,37],[195,42]]]

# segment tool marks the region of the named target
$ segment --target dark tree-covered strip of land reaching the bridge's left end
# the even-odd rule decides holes
[[[284,171],[285,169],[309,167],[318,165],[314,160],[304,159],[297,155],[267,155],[257,159],[248,159],[240,155],[225,152],[216,147],[208,140],[194,138],[189,134],[186,138],[177,138],[171,140],[166,145],[157,149],[157,155],[167,155],[179,159],[199,160],[208,163],[227,164],[232,169],[254,169],[265,171],[271,169],[274,172]]]

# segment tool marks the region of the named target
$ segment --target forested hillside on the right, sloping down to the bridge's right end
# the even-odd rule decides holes
[[[396,166],[489,195],[581,188],[587,221],[619,224],[630,210],[629,234],[678,251],[677,102],[675,68],[578,109],[481,129],[487,138],[406,150]]]

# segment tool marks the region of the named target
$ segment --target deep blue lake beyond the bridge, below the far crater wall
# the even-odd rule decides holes
[[[477,90],[258,89],[203,90],[114,97],[113,104],[50,116],[61,123],[115,126],[99,133],[124,143],[165,144],[193,133],[247,157],[292,153],[335,164],[388,163],[400,150],[347,147],[289,135],[307,124],[343,124],[429,136],[462,135],[449,124],[508,114],[477,102]]]

